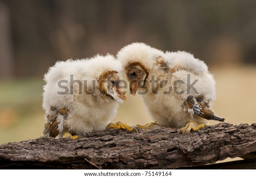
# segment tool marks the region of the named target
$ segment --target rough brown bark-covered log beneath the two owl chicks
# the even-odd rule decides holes
[[[176,169],[256,151],[256,123],[219,123],[179,135],[177,131],[160,126],[139,133],[111,129],[78,140],[41,137],[3,144],[0,168]],[[251,161],[250,169],[256,168],[256,160]]]

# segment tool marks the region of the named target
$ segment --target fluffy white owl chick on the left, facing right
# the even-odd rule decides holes
[[[44,76],[44,135],[85,135],[105,130],[126,94],[119,90],[121,63],[112,55],[57,62]],[[125,123],[112,123],[111,127]],[[119,126],[120,127],[120,126]],[[69,135],[70,135],[69,134]]]

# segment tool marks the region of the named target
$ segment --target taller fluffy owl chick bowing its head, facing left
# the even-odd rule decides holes
[[[132,43],[117,54],[130,84],[140,94],[155,123],[179,132],[198,130],[207,120],[224,121],[210,109],[215,80],[207,65],[187,52],[162,52],[144,43]]]

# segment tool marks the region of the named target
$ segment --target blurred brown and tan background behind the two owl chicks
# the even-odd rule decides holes
[[[0,0],[0,144],[42,135],[43,76],[57,60],[116,55],[133,42],[204,60],[215,113],[256,122],[255,0]],[[151,121],[139,96],[118,120]]]

